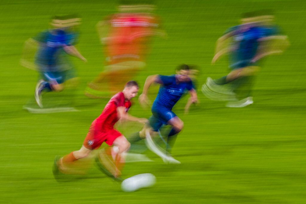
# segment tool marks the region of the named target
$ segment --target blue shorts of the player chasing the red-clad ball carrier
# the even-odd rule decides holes
[[[149,118],[149,123],[155,132],[158,131],[162,125],[168,124],[168,121],[176,117],[176,114],[171,109],[162,106],[153,106],[152,114],[153,115]]]

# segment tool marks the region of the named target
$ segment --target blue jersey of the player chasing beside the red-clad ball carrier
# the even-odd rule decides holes
[[[175,75],[159,75],[158,79],[157,82],[161,85],[153,103],[154,107],[162,106],[171,110],[186,91],[190,91],[194,88],[191,80],[177,83]]]

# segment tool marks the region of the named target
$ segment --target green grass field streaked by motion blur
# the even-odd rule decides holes
[[[291,46],[271,56],[254,87],[254,104],[226,108],[199,92],[200,104],[183,114],[186,98],[174,111],[185,122],[173,154],[181,165],[166,165],[147,151],[154,162],[128,163],[125,178],[152,173],[149,189],[124,193],[94,165],[70,182],[52,175],[56,155],[80,148],[91,122],[107,100],[84,96],[86,83],[103,70],[103,50],[95,24],[114,13],[112,1],[0,2],[0,203],[305,203],[306,193],[306,72],[305,8],[303,0],[157,1],[157,14],[168,39],[154,39],[147,68],[135,77],[143,85],[151,74],[169,75],[175,66],[200,66],[199,85],[207,76],[227,73],[223,58],[212,66],[215,41],[226,28],[238,24],[240,14],[272,8],[276,22]],[[32,114],[22,109],[33,97],[38,74],[19,64],[26,39],[48,28],[54,14],[79,13],[83,24],[79,50],[88,63],[73,59],[80,85],[79,112]],[[157,87],[151,89],[151,98]],[[137,100],[130,113],[149,117]],[[130,128],[128,128],[130,127]],[[138,125],[122,128],[125,135]]]

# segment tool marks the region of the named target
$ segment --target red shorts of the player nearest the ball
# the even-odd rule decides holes
[[[86,138],[83,142],[84,147],[88,149],[98,149],[102,143],[105,141],[106,144],[112,146],[114,140],[121,136],[122,134],[115,129],[110,129],[108,131],[102,132],[95,128],[95,123],[91,124]]]

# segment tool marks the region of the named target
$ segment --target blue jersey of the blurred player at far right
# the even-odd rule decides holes
[[[245,25],[234,26],[229,29],[233,32],[233,53],[230,56],[231,65],[247,64],[257,54],[259,39],[278,33],[275,27],[246,27]]]

